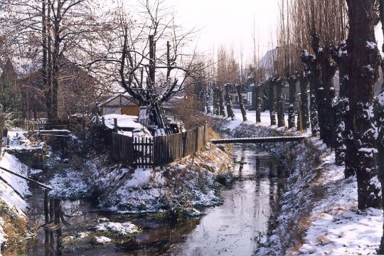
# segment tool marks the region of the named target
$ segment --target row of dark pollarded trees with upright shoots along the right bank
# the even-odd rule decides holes
[[[310,128],[314,137],[335,150],[336,164],[345,165],[345,177],[357,178],[360,210],[381,208],[384,84],[377,97],[375,84],[384,60],[375,26],[384,21],[384,1],[282,0],[280,5],[277,54],[270,61],[273,68],[262,76],[253,75],[256,122],[261,122],[262,92],[267,91],[271,125],[285,126],[283,88],[288,83],[288,127]],[[334,87],[337,71],[338,93]],[[214,90],[215,114],[223,114],[220,110],[231,103],[228,93],[223,100],[220,91]],[[380,252],[384,252],[384,238]]]

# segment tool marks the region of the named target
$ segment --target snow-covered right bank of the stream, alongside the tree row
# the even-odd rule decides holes
[[[268,127],[269,113],[255,124],[255,112],[241,122],[215,118],[215,127],[235,137],[298,134]],[[308,133],[309,134],[309,133]],[[356,177],[344,179],[343,167],[317,138],[302,144],[263,144],[287,166],[286,191],[280,210],[271,219],[272,229],[256,255],[372,255],[383,233],[383,211],[357,210]]]

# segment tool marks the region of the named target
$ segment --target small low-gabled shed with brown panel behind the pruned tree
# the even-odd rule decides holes
[[[110,97],[99,106],[100,115],[106,114],[127,114],[130,116],[139,116],[139,100],[129,95],[116,95]]]

